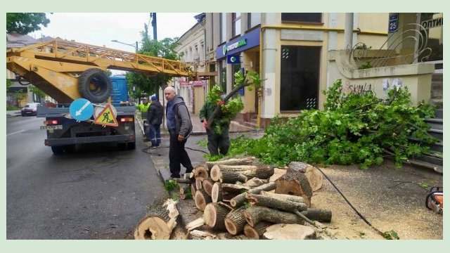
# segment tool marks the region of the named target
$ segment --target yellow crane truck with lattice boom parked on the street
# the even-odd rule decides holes
[[[122,149],[136,148],[134,106],[113,106],[115,126],[94,124],[94,116],[79,121],[70,115],[70,103],[79,98],[110,105],[113,84],[105,70],[192,76],[180,61],[62,39],[7,49],[6,68],[58,102],[58,108],[37,108],[37,117],[45,118],[41,126],[47,132],[44,144],[55,155],[70,153],[83,143],[115,142]]]

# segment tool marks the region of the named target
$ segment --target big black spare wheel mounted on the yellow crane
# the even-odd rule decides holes
[[[113,84],[105,72],[98,68],[85,70],[78,77],[79,94],[91,103],[103,103],[111,96]]]

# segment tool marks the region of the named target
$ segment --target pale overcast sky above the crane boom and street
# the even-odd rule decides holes
[[[199,13],[157,13],[158,40],[181,37],[197,22]],[[32,32],[30,36],[39,39],[43,36],[75,39],[77,42],[106,46],[123,51],[134,52],[134,47],[113,42],[113,39],[127,44],[139,42],[144,23],[149,24],[150,13],[53,13],[47,27]],[[153,38],[153,27],[149,24],[148,33]],[[113,74],[122,74],[117,70]]]

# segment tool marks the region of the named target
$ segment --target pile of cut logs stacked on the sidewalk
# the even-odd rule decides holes
[[[215,238],[195,230],[205,224],[214,233],[244,233],[249,239],[314,239],[316,233],[311,226],[304,226],[305,221],[313,226],[316,221],[331,221],[330,211],[311,208],[312,193],[323,183],[322,174],[302,162],[277,169],[255,157],[219,160],[198,165],[188,179],[176,181],[186,183],[180,186],[180,198],[186,198],[190,191],[195,207],[203,211],[203,218],[186,225],[194,238]],[[169,224],[168,216],[165,220]],[[159,222],[153,227],[166,233],[169,225]],[[147,227],[139,229],[138,224],[136,231],[145,235]]]

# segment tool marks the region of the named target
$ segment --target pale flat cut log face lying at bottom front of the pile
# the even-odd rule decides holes
[[[309,226],[299,224],[274,224],[266,228],[262,238],[269,240],[316,239],[316,231]]]

